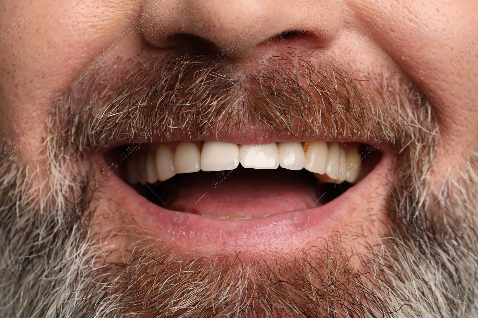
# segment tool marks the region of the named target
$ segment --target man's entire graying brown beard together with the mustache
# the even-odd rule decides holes
[[[432,186],[440,136],[431,105],[413,87],[355,78],[332,58],[304,52],[270,58],[253,76],[191,53],[141,62],[114,87],[102,80],[109,71],[68,89],[71,103],[53,108],[42,148],[45,182],[19,152],[1,165],[5,317],[478,314],[478,175],[465,168],[453,184],[444,178],[439,191]],[[398,155],[380,244],[358,252],[338,234],[290,255],[188,256],[142,235],[121,250],[105,248],[127,226],[93,230],[102,194],[88,154],[138,137],[181,131],[200,138],[243,127],[390,143]],[[476,159],[471,154],[467,167]]]

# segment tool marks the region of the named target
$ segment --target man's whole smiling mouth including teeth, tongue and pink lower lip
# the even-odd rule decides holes
[[[252,252],[338,230],[390,160],[363,143],[269,140],[123,145],[104,155],[118,166],[104,179],[133,219],[179,249]]]

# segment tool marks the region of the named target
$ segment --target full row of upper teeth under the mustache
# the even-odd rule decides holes
[[[159,144],[152,152],[131,156],[128,161],[128,181],[131,184],[164,181],[175,174],[203,171],[222,171],[237,168],[301,170],[320,175],[329,182],[354,182],[360,172],[357,144],[345,153],[337,143],[327,147],[326,142],[286,142],[272,144],[228,144],[205,141],[202,152],[196,144],[180,142],[173,152]]]

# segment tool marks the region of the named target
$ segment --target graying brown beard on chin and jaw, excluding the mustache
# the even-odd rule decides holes
[[[404,149],[385,207],[390,227],[380,245],[359,255],[360,268],[350,265],[340,236],[326,238],[326,247],[244,262],[189,259],[141,237],[127,249],[128,260],[98,262],[107,259],[99,243],[109,236],[91,233],[94,169],[80,174],[64,149],[58,156],[61,143],[46,143],[48,181],[41,185],[11,154],[0,166],[2,316],[477,316],[478,175],[468,171],[477,154],[435,192],[429,175],[439,135],[431,108],[395,105],[401,108],[385,123],[380,118],[381,127],[395,129],[385,135]],[[2,153],[8,145],[1,144]]]

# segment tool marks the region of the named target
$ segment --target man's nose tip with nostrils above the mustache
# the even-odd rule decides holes
[[[267,40],[296,33],[315,49],[337,37],[342,25],[337,8],[331,0],[149,0],[142,30],[158,48],[189,34],[243,56]]]

